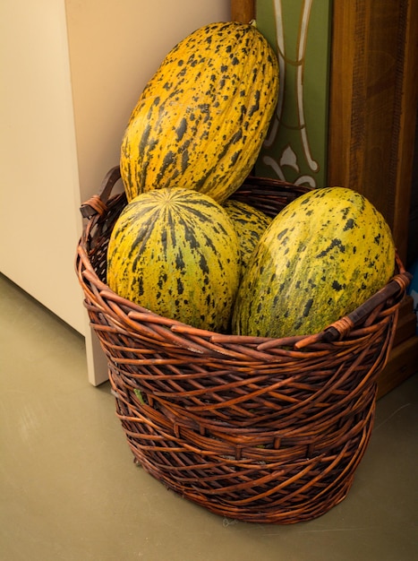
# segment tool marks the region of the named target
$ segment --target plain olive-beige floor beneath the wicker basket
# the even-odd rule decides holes
[[[418,375],[378,403],[349,495],[317,520],[210,514],[132,462],[79,334],[0,276],[1,561],[416,561]]]

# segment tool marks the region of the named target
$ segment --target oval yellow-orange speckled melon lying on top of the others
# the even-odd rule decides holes
[[[277,56],[254,26],[218,22],[194,31],[132,111],[120,159],[128,201],[174,186],[225,201],[257,159],[277,95]]]

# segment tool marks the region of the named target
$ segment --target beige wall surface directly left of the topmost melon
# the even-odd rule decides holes
[[[81,196],[119,161],[124,128],[166,53],[229,0],[66,0]]]

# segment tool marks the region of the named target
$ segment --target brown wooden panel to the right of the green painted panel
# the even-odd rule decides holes
[[[334,0],[328,185],[367,196],[405,262],[417,102],[418,3]]]

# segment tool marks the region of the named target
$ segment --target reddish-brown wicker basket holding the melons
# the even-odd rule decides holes
[[[229,518],[285,524],[326,513],[345,498],[371,436],[377,375],[410,281],[402,263],[384,289],[313,336],[195,329],[107,287],[107,243],[126,204],[124,194],[108,198],[119,177],[110,170],[81,207],[76,268],[135,461]],[[235,197],[275,215],[306,190],[249,178]]]

